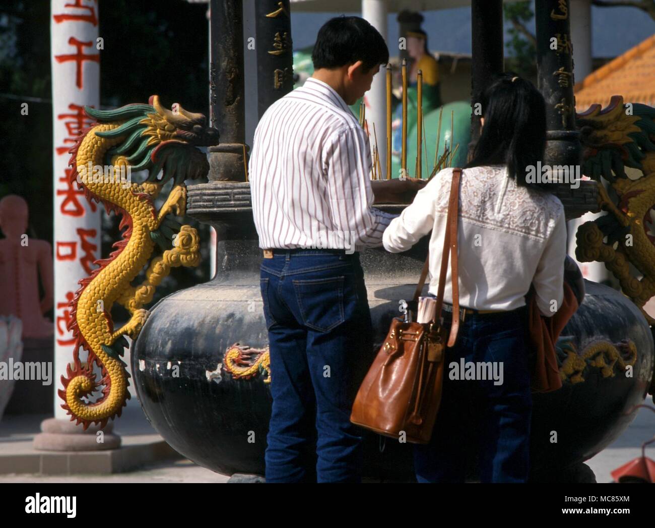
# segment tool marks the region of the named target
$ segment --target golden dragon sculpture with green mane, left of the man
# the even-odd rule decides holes
[[[103,203],[107,214],[120,214],[122,240],[115,243],[109,258],[96,260],[89,277],[79,281],[81,287],[71,300],[68,329],[75,337],[73,365],[62,375],[62,407],[71,421],[105,426],[109,418],[121,416],[127,403],[128,373],[121,360],[127,341],[136,339],[147,318],[145,304],[153,299],[170,268],[197,266],[200,262],[198,234],[191,226],[181,226],[172,216],[186,210],[184,180],[206,176],[206,155],[197,146],[218,143],[218,131],[206,126],[201,113],[186,112],[178,104],[163,108],[159,97],[149,104],[128,104],[116,110],[85,107],[86,115],[96,120],[84,129],[71,149],[71,182],[83,188],[87,199]],[[127,169],[148,171],[144,182],[124,178]],[[102,169],[102,170],[101,170]],[[117,176],[121,174],[121,178]],[[172,188],[157,210],[154,200],[164,184]],[[131,283],[148,264],[159,245],[162,254],[155,257],[145,272],[145,281]],[[131,317],[114,329],[111,308],[119,303]],[[83,363],[79,350],[88,353]],[[94,365],[100,370],[96,379]],[[90,402],[101,390],[97,401]]]

